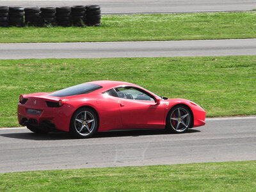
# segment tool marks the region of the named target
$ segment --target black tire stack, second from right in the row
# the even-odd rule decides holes
[[[85,6],[72,6],[72,23],[74,26],[84,26],[85,23]]]

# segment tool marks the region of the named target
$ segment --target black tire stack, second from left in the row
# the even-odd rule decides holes
[[[24,8],[20,6],[11,6],[9,8],[9,25],[24,26]]]

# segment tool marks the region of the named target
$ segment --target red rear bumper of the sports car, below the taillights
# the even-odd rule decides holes
[[[44,108],[40,110],[42,110],[40,115],[29,114],[27,113],[28,108],[19,103],[17,109],[19,124],[69,131],[70,119],[75,111],[72,106],[64,104],[61,108]]]

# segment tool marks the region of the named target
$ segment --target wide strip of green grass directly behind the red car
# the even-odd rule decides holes
[[[100,79],[193,100],[207,116],[256,114],[256,56],[0,60],[0,71],[0,127],[18,125],[20,94]]]

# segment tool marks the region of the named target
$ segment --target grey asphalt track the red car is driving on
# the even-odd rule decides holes
[[[141,166],[256,159],[256,116],[207,119],[185,134],[164,131],[67,133],[0,129],[0,173],[28,170]]]

